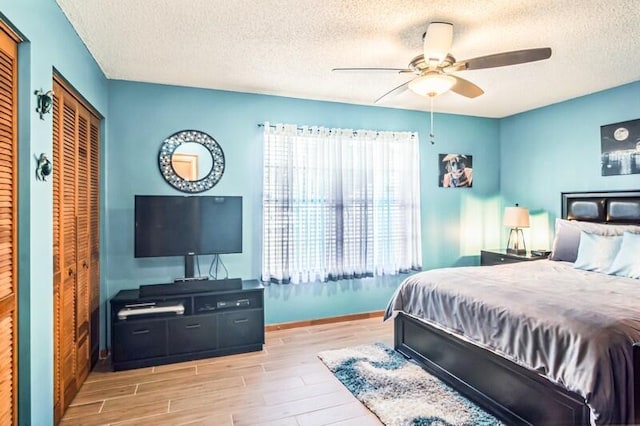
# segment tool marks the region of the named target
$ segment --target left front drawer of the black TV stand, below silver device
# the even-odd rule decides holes
[[[167,322],[162,319],[118,322],[112,332],[118,336],[114,345],[113,361],[152,358],[165,354],[167,348]]]

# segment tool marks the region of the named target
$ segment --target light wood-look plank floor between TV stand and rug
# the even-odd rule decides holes
[[[99,364],[62,425],[380,425],[317,358],[384,342],[381,317],[269,331],[262,352],[112,372]]]

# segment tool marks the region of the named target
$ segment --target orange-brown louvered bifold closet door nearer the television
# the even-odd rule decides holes
[[[54,78],[54,418],[98,359],[99,119]]]

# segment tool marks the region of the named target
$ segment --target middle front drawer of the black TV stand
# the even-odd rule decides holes
[[[183,354],[216,349],[218,339],[215,315],[175,318],[169,321],[169,354]]]

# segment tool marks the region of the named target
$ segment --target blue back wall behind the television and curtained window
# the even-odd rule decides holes
[[[135,194],[178,194],[162,179],[161,142],[176,131],[197,129],[222,146],[226,168],[207,195],[244,197],[244,253],[224,255],[230,276],[260,276],[262,233],[262,131],[264,121],[354,129],[417,131],[421,136],[424,267],[475,263],[482,235],[461,247],[474,211],[487,210],[498,192],[498,121],[437,114],[437,144],[428,142],[424,112],[264,96],[156,84],[111,81],[106,177],[105,300],[125,288],[170,282],[183,275],[182,259],[133,257]],[[438,154],[472,154],[472,189],[438,188]],[[488,201],[487,201],[488,200]],[[465,214],[462,214],[464,211]],[[489,221],[495,222],[495,215]],[[201,257],[208,267],[210,258]],[[400,277],[402,278],[402,276]],[[267,323],[322,318],[383,309],[397,278],[269,286]]]

